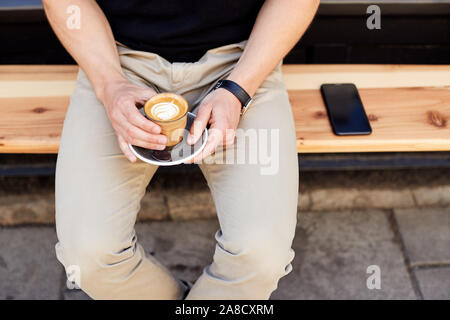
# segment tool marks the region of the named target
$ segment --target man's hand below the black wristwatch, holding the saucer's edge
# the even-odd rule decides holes
[[[219,88],[208,94],[200,104],[187,142],[191,145],[197,142],[206,125],[210,124],[208,141],[203,151],[189,163],[200,162],[221,144],[232,145],[240,114],[241,102],[231,92]]]

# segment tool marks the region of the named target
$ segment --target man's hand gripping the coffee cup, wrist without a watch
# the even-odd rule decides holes
[[[161,128],[145,118],[136,107],[155,94],[153,89],[139,87],[128,80],[108,83],[104,88],[101,100],[116,131],[120,149],[131,162],[136,161],[136,156],[128,143],[154,150],[166,147],[167,137],[160,134]]]

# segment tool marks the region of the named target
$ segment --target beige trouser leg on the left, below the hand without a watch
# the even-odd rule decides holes
[[[125,158],[103,105],[80,72],[57,160],[56,251],[92,298],[177,299],[183,294],[166,268],[146,256],[134,231],[156,169]]]

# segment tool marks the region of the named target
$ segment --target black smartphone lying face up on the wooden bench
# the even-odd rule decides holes
[[[333,83],[320,86],[328,118],[336,135],[371,134],[369,119],[367,118],[358,89],[352,83]]]

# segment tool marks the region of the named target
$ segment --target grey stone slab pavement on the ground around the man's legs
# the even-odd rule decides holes
[[[137,225],[138,239],[178,277],[195,281],[214,250],[216,219]],[[65,286],[54,227],[0,227],[0,299],[86,299]],[[272,299],[450,299],[450,208],[299,214],[293,271]],[[381,288],[368,289],[369,266]]]

